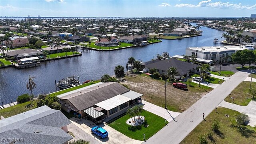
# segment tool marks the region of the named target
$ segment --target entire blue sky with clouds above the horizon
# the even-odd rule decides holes
[[[0,16],[250,17],[256,0],[0,0]]]

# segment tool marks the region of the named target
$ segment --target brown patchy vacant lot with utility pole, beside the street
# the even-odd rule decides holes
[[[142,99],[161,106],[165,106],[165,87],[164,80],[156,80],[146,74],[133,74],[136,77],[125,76],[128,81],[121,82],[127,84],[131,90],[143,94]],[[172,82],[168,81],[166,86],[167,108],[175,112],[183,112],[202,98],[212,88],[207,86],[199,87],[198,84],[191,83],[188,90],[180,90],[172,87]]]

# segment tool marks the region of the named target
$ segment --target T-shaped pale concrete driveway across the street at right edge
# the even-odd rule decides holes
[[[224,108],[229,108],[231,110],[236,110],[238,112],[244,112],[249,116],[249,124],[250,126],[254,127],[256,125],[256,101],[250,101],[247,106],[239,106],[237,104],[232,104],[229,102],[225,102],[224,100],[218,105]]]

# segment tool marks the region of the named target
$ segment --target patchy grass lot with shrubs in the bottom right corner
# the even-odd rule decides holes
[[[255,144],[256,143],[256,128],[251,126],[236,127],[236,114],[239,112],[228,108],[213,110],[180,144],[199,144],[199,134],[205,134],[212,126],[212,120],[218,118],[220,120],[220,130],[217,133],[213,132],[212,140],[208,140],[209,144]],[[227,118],[225,114],[229,115]]]

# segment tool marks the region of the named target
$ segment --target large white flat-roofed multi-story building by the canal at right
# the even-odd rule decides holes
[[[226,62],[231,61],[231,56],[238,50],[254,50],[252,47],[246,46],[204,46],[204,47],[190,47],[186,48],[186,55],[191,56],[196,55],[197,58],[202,58],[205,60],[220,61],[225,58]]]

